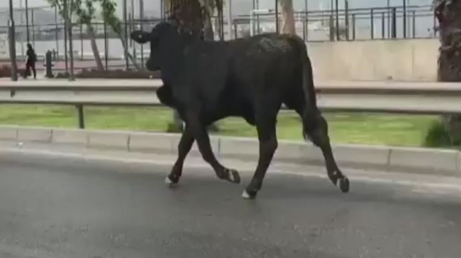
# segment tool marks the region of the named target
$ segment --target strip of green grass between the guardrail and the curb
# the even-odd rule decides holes
[[[158,107],[85,107],[86,128],[165,132],[173,112]],[[422,146],[438,116],[328,113],[330,138],[335,143]],[[74,107],[61,105],[1,105],[0,124],[75,128]],[[219,134],[255,137],[255,128],[243,119],[219,121]],[[279,114],[279,139],[302,139],[301,123],[293,112]]]

